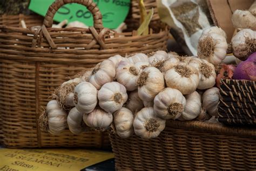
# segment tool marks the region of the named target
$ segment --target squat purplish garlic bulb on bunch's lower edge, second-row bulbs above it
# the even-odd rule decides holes
[[[104,130],[111,125],[113,116],[111,113],[105,112],[100,108],[95,108],[91,113],[84,114],[83,120],[91,128]]]

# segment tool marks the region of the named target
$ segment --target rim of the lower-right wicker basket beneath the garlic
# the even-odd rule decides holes
[[[166,125],[179,129],[187,129],[191,131],[198,131],[201,133],[213,133],[231,136],[242,136],[256,138],[256,128],[250,127],[234,127],[227,126],[220,123],[208,123],[203,121],[174,121],[167,120]]]

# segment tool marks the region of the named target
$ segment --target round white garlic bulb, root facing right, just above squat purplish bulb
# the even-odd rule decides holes
[[[106,83],[98,91],[99,106],[106,112],[113,113],[122,108],[128,95],[126,88],[117,82]]]

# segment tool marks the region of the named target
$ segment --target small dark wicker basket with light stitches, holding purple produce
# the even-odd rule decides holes
[[[220,122],[232,125],[256,125],[256,84],[248,80],[221,80]]]

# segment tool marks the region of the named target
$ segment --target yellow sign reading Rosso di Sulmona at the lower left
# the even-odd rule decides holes
[[[0,170],[80,170],[114,158],[113,153],[87,149],[0,149]]]

